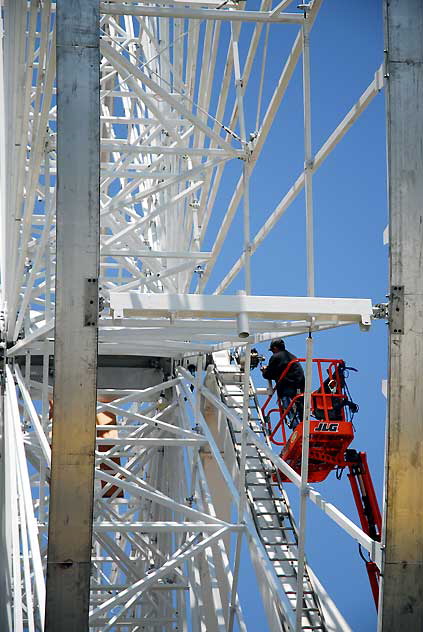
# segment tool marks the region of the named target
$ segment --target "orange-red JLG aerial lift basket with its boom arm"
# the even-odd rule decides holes
[[[305,362],[304,358],[292,360],[282,372],[278,381],[283,380],[294,362]],[[354,439],[352,419],[358,406],[351,401],[345,381],[348,369],[343,360],[327,358],[313,359],[319,376],[319,388],[312,392],[310,401],[310,442],[308,482],[324,481],[334,470],[348,468],[348,480],[351,485],[363,531],[380,542],[382,517],[376,493],[370,475],[365,452],[348,449]],[[324,378],[324,369],[327,377]],[[353,369],[355,370],[355,369]],[[276,395],[276,407],[270,403]],[[277,384],[262,407],[263,419],[270,440],[281,446],[281,458],[298,474],[301,474],[301,454],[304,422],[302,419],[304,393],[297,393],[286,406],[283,405],[277,392]],[[278,415],[272,428],[272,415]],[[293,430],[289,438],[286,427]],[[275,480],[290,482],[279,470]],[[380,572],[376,564],[360,555],[366,564],[370,587],[376,608],[379,600]]]

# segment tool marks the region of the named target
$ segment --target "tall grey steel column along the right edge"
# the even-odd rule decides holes
[[[385,2],[390,215],[385,559],[379,629],[423,629],[423,4]]]

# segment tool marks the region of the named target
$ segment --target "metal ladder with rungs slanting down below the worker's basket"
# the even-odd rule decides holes
[[[226,356],[226,357],[225,357]],[[243,410],[244,374],[239,364],[230,363],[229,355],[213,354],[215,376],[222,401],[240,416]],[[254,384],[250,379],[248,417],[250,428],[269,444]],[[241,453],[241,431],[227,420],[238,464]],[[275,467],[256,447],[247,443],[246,492],[257,533],[279,577],[293,609],[296,606],[298,533],[289,501],[280,480],[274,481]],[[278,474],[276,473],[276,479]],[[307,565],[304,571],[302,630],[326,632],[322,608],[313,588]]]

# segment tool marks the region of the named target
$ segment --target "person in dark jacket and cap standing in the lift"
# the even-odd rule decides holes
[[[285,349],[285,343],[281,338],[272,340],[269,351],[271,351],[273,355],[269,360],[269,364],[261,367],[262,374],[266,380],[275,380],[278,397],[286,410],[296,395],[304,393],[305,379],[303,367],[300,362],[293,362],[286,375],[280,380],[279,378],[282,373],[292,360],[296,360],[296,356]],[[295,400],[291,409],[292,412],[289,423],[291,428],[295,428],[300,421],[303,420],[303,410],[304,398],[300,397]]]

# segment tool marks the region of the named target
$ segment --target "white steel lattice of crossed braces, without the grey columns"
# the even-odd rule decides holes
[[[269,629],[348,629],[307,566],[296,620],[302,571],[295,523],[270,471],[283,470],[298,487],[301,478],[261,434],[248,367],[241,374],[225,351],[219,355],[310,328],[370,325],[367,299],[256,297],[251,290],[252,254],[304,186],[312,236],[313,174],[383,87],[379,69],[320,150],[311,156],[305,147],[304,172],[251,236],[250,178],[303,51],[307,58],[320,5],[100,3],[94,631],[248,629],[238,594],[243,538]],[[45,619],[59,168],[55,14],[49,0],[5,0],[2,14],[1,627],[14,631],[43,630]],[[252,28],[242,26],[250,21]],[[298,34],[266,103],[266,33],[285,24]],[[307,86],[306,63],[304,73]],[[252,127],[248,99],[256,106]],[[304,105],[309,135],[307,99]],[[239,165],[239,180],[223,219],[215,220],[230,162]],[[240,204],[242,250],[215,296],[206,295]],[[209,233],[214,241],[205,248]],[[307,252],[310,277],[310,238]],[[221,295],[241,271],[246,294]],[[241,325],[248,327],[243,339]],[[215,392],[204,371],[210,353]],[[188,365],[196,366],[195,378]],[[317,491],[304,491],[380,564],[376,543]],[[301,525],[298,533],[303,537]]]

